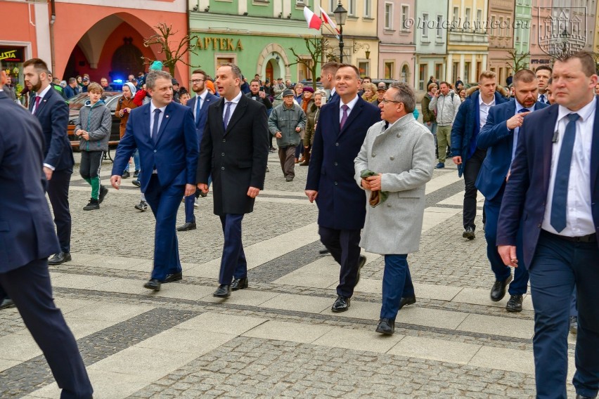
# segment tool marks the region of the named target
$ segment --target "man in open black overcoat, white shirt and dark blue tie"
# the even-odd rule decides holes
[[[198,188],[208,192],[212,174],[214,214],[221,218],[224,233],[220,285],[214,292],[219,298],[247,287],[241,221],[254,210],[255,198],[264,190],[269,155],[266,107],[243,96],[241,79],[237,65],[228,63],[217,70],[215,84],[221,99],[208,108],[198,161]]]

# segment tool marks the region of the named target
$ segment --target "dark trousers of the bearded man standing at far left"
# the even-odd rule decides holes
[[[71,182],[72,168],[62,171],[53,171],[48,182],[48,197],[54,212],[56,235],[60,242],[60,251],[71,251],[71,212],[69,210],[69,185]]]

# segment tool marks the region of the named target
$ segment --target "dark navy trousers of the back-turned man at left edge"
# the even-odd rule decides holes
[[[0,287],[13,299],[25,326],[44,353],[61,399],[91,398],[91,388],[77,341],[52,298],[48,260],[0,273]]]

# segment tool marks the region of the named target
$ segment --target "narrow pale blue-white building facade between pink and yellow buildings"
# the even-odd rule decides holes
[[[416,1],[413,26],[416,42],[414,87],[420,94],[426,91],[431,76],[443,80],[447,62],[448,0]]]

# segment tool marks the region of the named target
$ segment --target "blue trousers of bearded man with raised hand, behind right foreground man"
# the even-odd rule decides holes
[[[497,221],[499,219],[499,209],[501,209],[501,198],[489,201],[485,199],[484,210],[487,214],[487,221],[484,225],[484,237],[487,239],[487,258],[491,263],[491,270],[495,273],[495,280],[503,281],[510,277],[512,270],[505,266],[501,256],[497,251]],[[522,254],[522,230],[518,231],[516,252],[518,257],[518,267],[514,270],[514,280],[510,283],[508,292],[510,295],[526,294],[528,284],[528,271],[524,265],[524,254]]]

